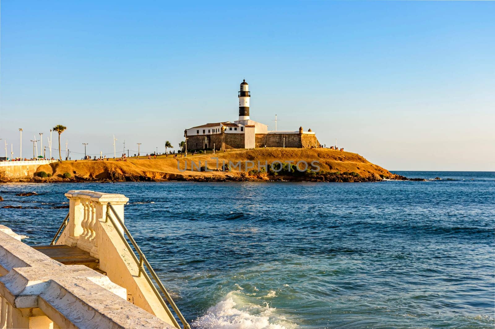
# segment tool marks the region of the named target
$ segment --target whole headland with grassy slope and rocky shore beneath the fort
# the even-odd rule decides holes
[[[399,179],[356,153],[332,149],[266,148],[216,154],[127,161],[63,161],[40,165],[33,176],[0,178],[17,182],[74,181],[330,181],[369,182]],[[297,162],[299,164],[296,167]],[[306,168],[307,165],[307,168]],[[193,169],[191,169],[193,168]],[[304,170],[305,169],[305,170]],[[43,177],[45,176],[48,177]]]

